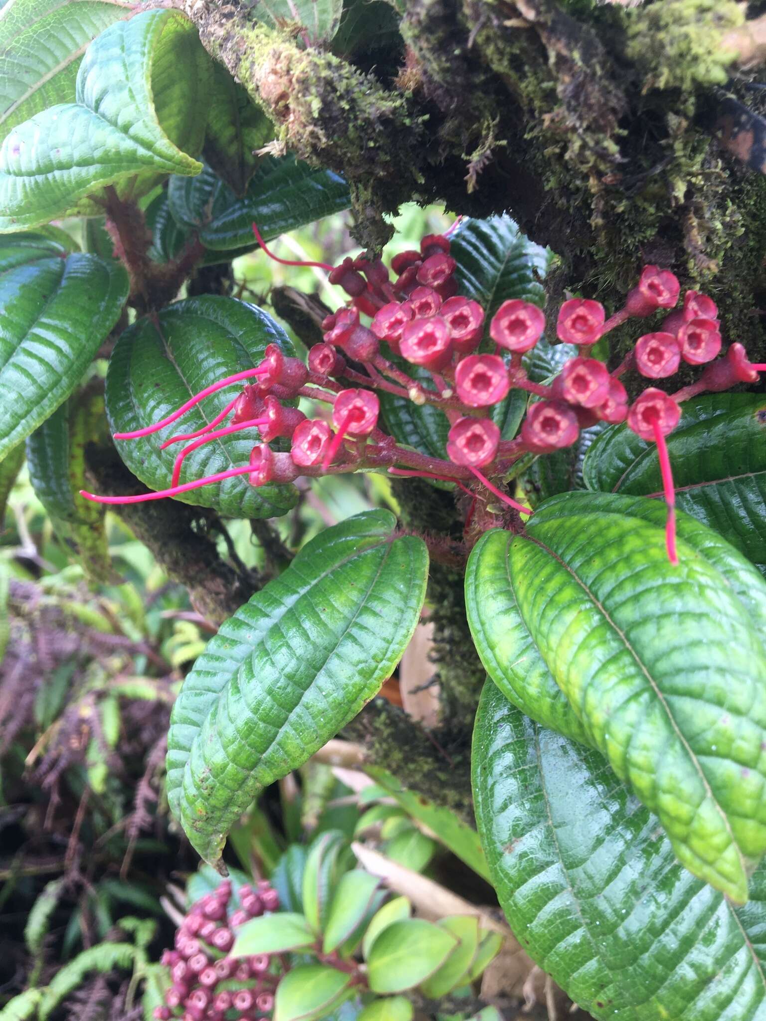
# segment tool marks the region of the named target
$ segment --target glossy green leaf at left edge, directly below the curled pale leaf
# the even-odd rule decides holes
[[[127,297],[116,262],[36,235],[0,241],[0,459],[75,390]]]

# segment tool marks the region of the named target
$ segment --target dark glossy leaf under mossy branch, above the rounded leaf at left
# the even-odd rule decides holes
[[[198,231],[202,244],[218,251],[256,247],[253,223],[269,241],[350,204],[341,177],[293,156],[265,156],[244,198],[207,167],[194,179],[171,178],[167,197],[176,223]]]

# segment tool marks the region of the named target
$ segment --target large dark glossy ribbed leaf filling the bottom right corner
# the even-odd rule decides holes
[[[733,908],[675,861],[607,761],[487,683],[474,727],[476,821],[502,910],[597,1021],[763,1021],[766,868]]]

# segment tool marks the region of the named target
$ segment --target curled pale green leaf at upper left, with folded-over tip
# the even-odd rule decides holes
[[[179,11],[116,21],[88,47],[76,101],[36,113],[0,147],[0,231],[102,211],[104,189],[145,195],[198,174],[210,59]]]

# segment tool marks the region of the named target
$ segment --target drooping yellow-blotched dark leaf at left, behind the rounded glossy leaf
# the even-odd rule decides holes
[[[80,394],[61,404],[27,439],[30,481],[53,531],[82,563],[86,574],[101,581],[109,580],[112,574],[105,508],[83,499],[80,490],[86,484],[86,445],[105,433],[103,397]]]

